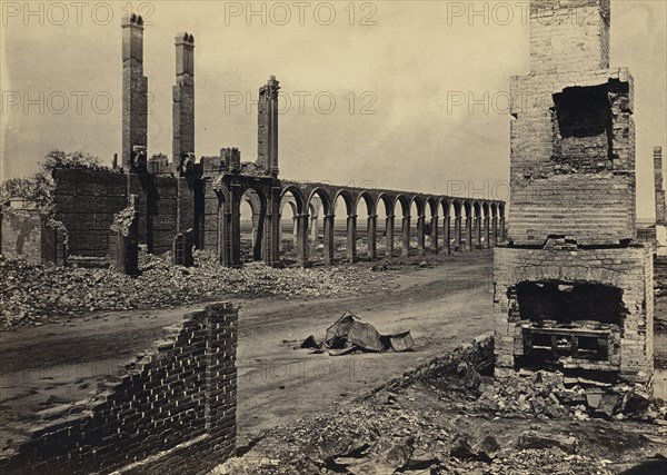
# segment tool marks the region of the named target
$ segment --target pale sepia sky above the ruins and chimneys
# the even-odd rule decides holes
[[[0,3],[0,178],[34,172],[54,148],[110,164],[121,145],[120,20],[129,3]],[[173,36],[188,31],[198,157],[239,147],[243,161],[256,159],[248,99],[275,75],[282,107],[289,100],[281,178],[508,198],[506,99],[509,78],[529,72],[526,1],[277,4],[253,2],[259,13],[248,18],[245,1],[132,2],[152,22],[149,155],[171,155]],[[629,67],[636,86],[639,218],[653,216],[653,147],[667,157],[666,26],[665,0],[613,1],[611,67]]]

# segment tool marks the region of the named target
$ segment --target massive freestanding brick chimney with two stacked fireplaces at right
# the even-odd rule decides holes
[[[653,377],[651,246],[637,240],[634,83],[609,68],[609,0],[532,0],[511,78],[511,226],[495,249],[497,372]]]

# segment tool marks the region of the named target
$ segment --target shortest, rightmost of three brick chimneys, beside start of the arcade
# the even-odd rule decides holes
[[[257,165],[275,177],[278,176],[278,85],[271,76],[259,88],[257,118]]]

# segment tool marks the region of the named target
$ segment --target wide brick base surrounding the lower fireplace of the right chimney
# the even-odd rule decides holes
[[[654,354],[650,246],[570,251],[495,248],[494,326],[500,368],[514,368],[515,356],[522,353],[516,287],[525,281],[595,283],[621,289],[624,316],[617,345],[610,348],[609,368],[619,370],[626,382],[648,383]]]

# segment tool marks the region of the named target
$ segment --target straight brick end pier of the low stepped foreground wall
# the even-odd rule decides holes
[[[205,428],[220,459],[236,446],[238,308],[206,306]]]

